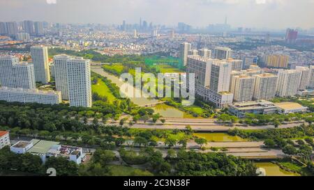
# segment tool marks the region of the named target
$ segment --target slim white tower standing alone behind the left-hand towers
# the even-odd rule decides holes
[[[31,58],[35,69],[36,81],[47,84],[50,81],[48,48],[43,46],[31,47]]]

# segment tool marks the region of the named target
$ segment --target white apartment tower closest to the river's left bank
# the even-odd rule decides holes
[[[66,65],[70,106],[91,107],[91,65],[83,58],[70,58]]]

